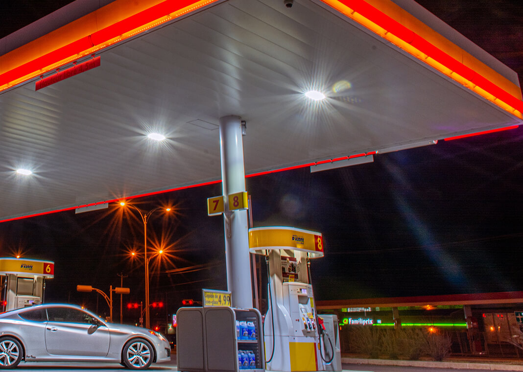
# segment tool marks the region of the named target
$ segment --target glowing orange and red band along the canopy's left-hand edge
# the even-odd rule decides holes
[[[116,0],[0,56],[0,91],[219,0]]]

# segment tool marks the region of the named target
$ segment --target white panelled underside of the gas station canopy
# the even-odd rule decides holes
[[[219,180],[224,115],[247,174],[521,123],[317,1],[224,1],[99,55],[0,94],[0,220]]]

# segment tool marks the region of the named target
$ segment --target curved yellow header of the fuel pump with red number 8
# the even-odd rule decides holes
[[[271,249],[293,249],[323,257],[323,237],[320,232],[294,227],[254,227],[249,229],[249,251],[265,254]]]

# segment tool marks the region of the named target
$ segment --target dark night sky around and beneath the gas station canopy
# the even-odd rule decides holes
[[[2,2],[0,37],[69,1]],[[419,2],[523,77],[523,9],[519,1]],[[35,6],[38,4],[38,6]],[[323,233],[325,257],[312,261],[317,300],[523,290],[523,129],[440,141],[378,154],[374,162],[310,173],[309,168],[248,178],[254,226],[285,225]],[[151,267],[151,302],[174,312],[201,288],[226,289],[223,221],[208,217],[206,199],[221,185],[135,200],[144,210],[176,205],[158,215],[149,236],[169,257]],[[143,298],[143,225],[121,209],[74,211],[0,224],[0,256],[55,262],[46,300],[96,307],[94,294],[131,288]],[[263,264],[264,266],[264,264]],[[103,301],[103,300],[100,300]],[[127,303],[127,301],[124,301]],[[105,304],[100,303],[100,311]],[[115,303],[115,306],[119,306]],[[126,316],[131,316],[127,313]]]

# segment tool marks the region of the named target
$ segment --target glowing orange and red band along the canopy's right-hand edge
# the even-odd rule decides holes
[[[390,0],[322,1],[503,110],[523,119],[521,89],[516,84]]]

